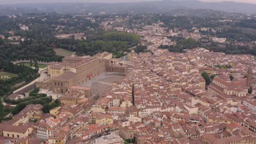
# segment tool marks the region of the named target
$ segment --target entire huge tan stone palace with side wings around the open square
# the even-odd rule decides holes
[[[111,58],[112,53],[102,52],[92,57],[65,57],[62,62],[51,62],[47,67],[51,80],[37,82],[36,86],[66,93],[68,88],[82,85],[105,71],[126,73],[127,67],[112,64]],[[86,89],[85,95],[91,95],[90,89]]]

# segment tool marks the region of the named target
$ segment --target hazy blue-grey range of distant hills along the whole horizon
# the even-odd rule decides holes
[[[85,13],[171,13],[174,9],[211,9],[228,13],[256,14],[256,4],[236,2],[155,1],[137,3],[36,3],[0,5],[0,14],[25,12]]]

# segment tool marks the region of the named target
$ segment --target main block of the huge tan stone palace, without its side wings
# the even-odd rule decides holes
[[[82,85],[92,77],[106,71],[105,69],[105,61],[98,57],[65,57],[62,62],[49,63],[50,87],[55,93],[66,93],[69,87]],[[46,82],[40,83],[36,86],[40,88],[46,86]],[[91,95],[91,93],[86,95]]]

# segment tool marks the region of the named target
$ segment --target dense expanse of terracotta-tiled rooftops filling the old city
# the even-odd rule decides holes
[[[108,27],[107,24],[103,22],[103,26]],[[256,62],[253,56],[225,55],[200,47],[184,53],[158,49],[162,43],[173,44],[173,41],[162,38],[173,32],[167,33],[167,29],[160,25],[133,31],[144,36],[142,45],[147,45],[150,52],[135,53],[131,50],[120,59],[103,58],[112,55],[98,53],[86,60],[67,57],[62,63],[50,63],[48,70],[63,69],[63,74],[56,72],[58,76],[52,77],[57,83],[59,75],[65,80],[71,74],[66,73],[67,68],[70,71],[77,69],[73,75],[84,73],[79,68],[101,55],[98,61],[102,73],[103,70],[120,72],[120,68],[126,68],[123,71],[126,75],[98,99],[86,94],[91,88],[72,83],[72,86],[65,85],[65,92],[61,91],[63,95],[58,99],[62,105],[49,113],[42,112],[42,105],[27,105],[13,119],[0,124],[1,135],[11,138],[1,141],[255,143]],[[145,41],[150,44],[143,43]],[[98,66],[96,63],[90,68]],[[100,75],[96,72],[94,75]],[[211,77],[209,86],[205,75]],[[86,81],[91,80],[90,76]],[[81,77],[84,78],[80,76],[79,79]],[[54,82],[52,85],[56,86]],[[63,87],[62,83],[60,85]],[[38,120],[31,122],[32,119]]]

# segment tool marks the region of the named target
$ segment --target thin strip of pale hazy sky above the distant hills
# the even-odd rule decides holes
[[[42,3],[42,2],[141,2],[141,1],[160,1],[160,0],[0,0],[0,4],[14,4],[14,3]],[[203,2],[244,2],[244,3],[255,3],[256,0],[200,0]]]

